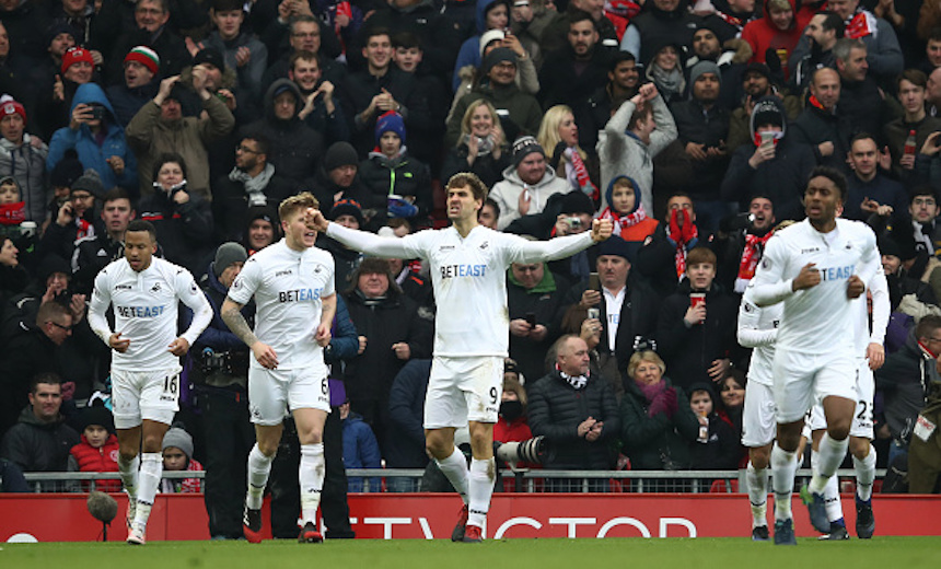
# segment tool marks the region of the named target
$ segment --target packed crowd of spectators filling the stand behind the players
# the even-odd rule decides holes
[[[109,350],[85,315],[131,219],[155,225],[159,255],[216,311],[164,442],[167,469],[205,465],[206,480],[163,491],[241,511],[251,351],[219,310],[280,239],[279,202],[307,190],[334,222],[398,239],[448,224],[458,172],[490,188],[479,219],[495,230],[615,224],[571,258],[508,271],[497,440],[545,436],[547,468],[739,468],[739,301],[776,224],[803,218],[817,165],[847,177],[843,216],[876,233],[888,279],[880,466],[938,489],[941,448],[913,436],[941,413],[938,0],[0,0],[0,95],[11,489],[18,467],[116,471]],[[448,307],[421,259],[317,245],[341,301],[325,349],[333,466],[425,468]],[[380,487],[419,489],[350,480]]]

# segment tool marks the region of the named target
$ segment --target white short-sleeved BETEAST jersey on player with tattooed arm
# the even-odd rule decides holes
[[[229,289],[229,298],[247,304],[255,297],[255,336],[271,346],[279,370],[323,365],[314,336],[321,324],[321,299],[334,294],[334,258],[311,247],[288,247],[282,239],[248,257]],[[253,368],[262,368],[251,358]]]

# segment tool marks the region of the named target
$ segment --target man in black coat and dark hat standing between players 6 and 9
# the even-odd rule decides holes
[[[393,380],[408,360],[430,357],[431,321],[419,314],[418,303],[402,294],[383,259],[364,259],[350,281],[344,300],[365,348],[347,362],[344,383],[350,408],[380,433],[384,449],[394,437],[388,426]]]

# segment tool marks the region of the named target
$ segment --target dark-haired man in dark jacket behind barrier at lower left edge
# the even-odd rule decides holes
[[[7,392],[4,392],[7,393]],[[20,420],[0,441],[0,456],[23,472],[66,472],[69,450],[79,443],[79,433],[66,425],[62,380],[55,373],[39,373],[30,382],[30,404]]]

